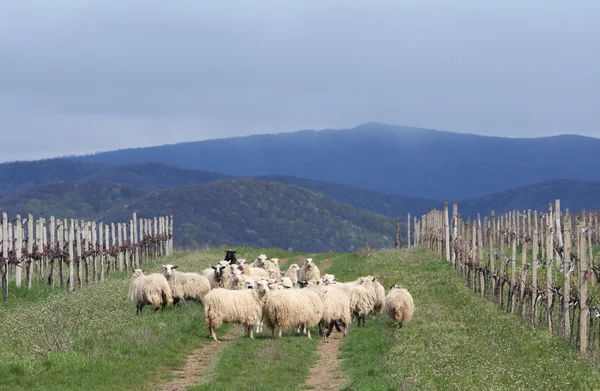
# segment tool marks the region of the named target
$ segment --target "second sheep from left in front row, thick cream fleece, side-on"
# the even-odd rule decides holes
[[[279,326],[279,337],[283,329],[304,325],[308,338],[310,328],[319,324],[325,307],[324,286],[308,284],[304,289],[280,289],[267,294],[264,305],[264,317],[275,338],[275,326]]]

